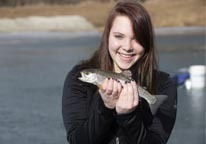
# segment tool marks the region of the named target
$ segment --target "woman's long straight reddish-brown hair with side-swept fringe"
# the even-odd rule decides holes
[[[137,72],[135,77],[138,79],[138,84],[146,87],[151,93],[154,93],[153,73],[154,69],[157,68],[157,61],[154,49],[153,26],[146,9],[135,0],[119,1],[110,11],[100,47],[86,62],[87,66],[113,71],[113,60],[109,54],[108,41],[113,21],[119,15],[127,16],[131,20],[135,38],[145,51],[144,55],[138,60],[138,64],[135,64],[135,66],[137,65],[135,67],[135,71]]]

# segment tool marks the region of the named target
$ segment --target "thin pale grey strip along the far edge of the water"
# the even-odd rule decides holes
[[[78,36],[93,36],[93,35],[101,35],[102,31],[98,31],[96,29],[78,29],[78,30],[68,30],[68,29],[61,29],[61,30],[43,30],[36,31],[36,30],[26,30],[26,31],[0,31],[1,35],[10,35],[10,36],[23,36],[23,35],[30,35],[32,37],[44,37],[44,36],[51,36],[51,37],[78,37]],[[51,34],[51,35],[50,35]],[[161,28],[154,28],[154,34],[158,36],[164,35],[195,35],[195,34],[204,34],[206,35],[206,27],[204,26],[189,26],[189,27],[161,27]]]

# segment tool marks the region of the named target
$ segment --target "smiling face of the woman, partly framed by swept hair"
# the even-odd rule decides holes
[[[136,41],[132,23],[127,16],[117,16],[109,34],[109,53],[114,71],[129,69],[144,54],[144,48]]]

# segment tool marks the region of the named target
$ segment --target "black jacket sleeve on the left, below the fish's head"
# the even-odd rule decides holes
[[[113,110],[107,109],[101,98],[88,90],[89,84],[77,79],[76,73],[73,70],[68,74],[63,89],[62,115],[67,140],[70,144],[97,144],[109,131]]]

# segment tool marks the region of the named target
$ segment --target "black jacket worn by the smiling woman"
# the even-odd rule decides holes
[[[78,80],[81,68],[68,74],[63,89],[62,114],[70,144],[166,144],[176,118],[177,88],[159,72],[157,94],[167,100],[153,116],[142,99],[135,111],[117,115],[104,106],[96,86]]]

